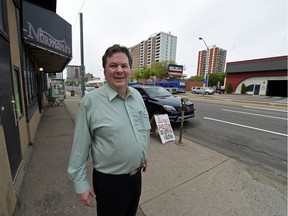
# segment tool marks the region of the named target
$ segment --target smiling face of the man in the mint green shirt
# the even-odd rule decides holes
[[[115,91],[126,90],[130,73],[131,68],[125,53],[114,53],[111,57],[107,58],[104,75],[110,87]]]

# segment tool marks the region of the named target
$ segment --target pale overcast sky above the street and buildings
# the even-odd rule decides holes
[[[176,63],[196,76],[198,52],[216,45],[226,62],[287,55],[287,0],[57,0],[57,14],[72,25],[73,59],[104,78],[102,56],[113,44],[132,47],[151,35],[177,37]],[[65,71],[64,71],[65,77]]]

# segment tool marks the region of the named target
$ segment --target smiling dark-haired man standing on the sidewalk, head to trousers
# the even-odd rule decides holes
[[[140,93],[128,87],[129,50],[120,45],[109,47],[102,65],[107,82],[79,104],[68,174],[83,205],[92,207],[91,198],[96,197],[98,216],[134,216],[141,194],[141,170],[147,169],[148,112]],[[94,190],[86,178],[90,151]]]

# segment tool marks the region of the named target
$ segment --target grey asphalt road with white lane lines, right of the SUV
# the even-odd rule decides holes
[[[196,117],[184,123],[183,137],[261,169],[286,182],[287,108],[197,100]],[[179,134],[179,125],[173,125]]]

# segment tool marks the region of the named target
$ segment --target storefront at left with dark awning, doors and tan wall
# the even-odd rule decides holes
[[[47,75],[72,58],[71,25],[56,0],[0,0],[0,214],[12,215],[14,184],[41,113],[48,104]]]

